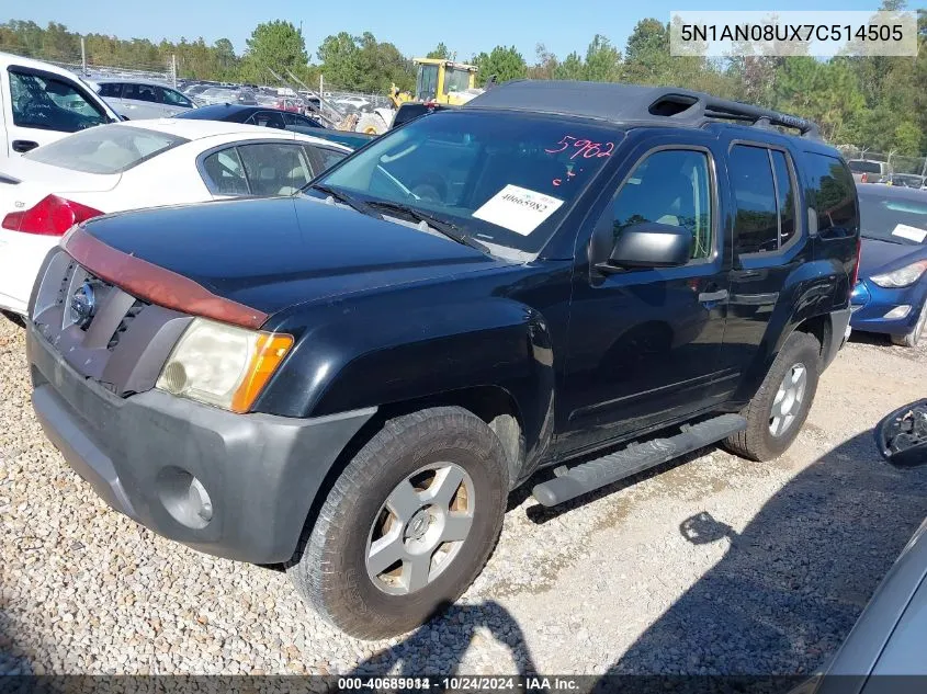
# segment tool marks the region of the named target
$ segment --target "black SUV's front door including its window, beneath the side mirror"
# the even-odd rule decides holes
[[[657,140],[659,141],[659,140]],[[655,221],[692,234],[691,260],[601,272],[577,261],[557,448],[575,452],[709,407],[728,289],[715,140],[638,145],[600,220],[614,237]],[[586,244],[577,254],[585,257]]]

